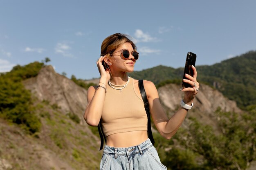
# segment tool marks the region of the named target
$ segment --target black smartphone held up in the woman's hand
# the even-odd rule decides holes
[[[193,69],[192,66],[195,66],[195,60],[196,60],[196,54],[192,53],[192,52],[188,52],[186,55],[186,63],[185,63],[185,68],[184,68],[184,73],[183,73],[183,79],[187,79],[185,77],[185,74],[189,74],[191,76],[193,76]],[[184,83],[182,81],[182,86],[184,88],[186,87],[192,87],[190,84],[188,83]]]

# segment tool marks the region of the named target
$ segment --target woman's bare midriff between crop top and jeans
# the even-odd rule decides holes
[[[131,131],[121,132],[109,135],[107,138],[107,146],[116,148],[127,148],[130,146],[137,146],[148,139],[148,132],[143,131]]]

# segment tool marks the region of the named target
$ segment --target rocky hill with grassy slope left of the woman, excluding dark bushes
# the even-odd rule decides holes
[[[0,117],[0,170],[98,170],[99,139],[83,120],[87,91],[52,66],[22,83],[41,127],[31,134]]]

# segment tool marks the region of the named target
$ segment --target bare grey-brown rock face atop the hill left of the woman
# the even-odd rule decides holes
[[[24,84],[40,101],[57,104],[63,113],[71,112],[82,119],[87,105],[87,91],[67,77],[57,74],[52,66],[44,67],[37,77],[27,79]]]

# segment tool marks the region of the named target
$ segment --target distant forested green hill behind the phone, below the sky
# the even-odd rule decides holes
[[[211,66],[196,66],[198,81],[207,83],[237,102],[240,108],[256,103],[256,51],[224,60]],[[147,79],[155,84],[182,79],[183,68],[156,66],[131,74],[135,79]],[[179,82],[179,81],[178,81]]]

